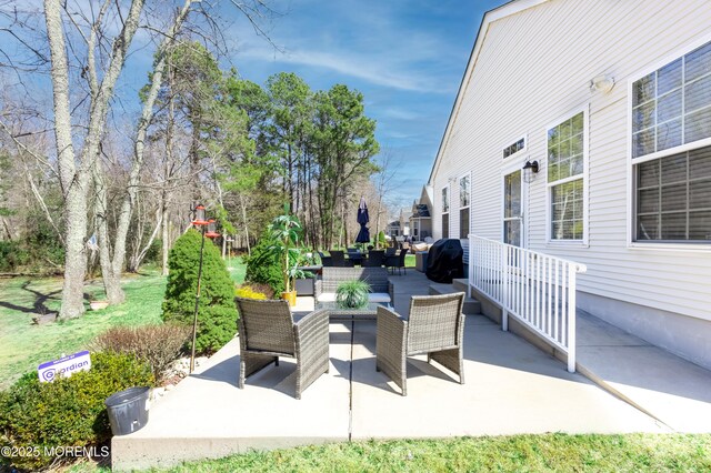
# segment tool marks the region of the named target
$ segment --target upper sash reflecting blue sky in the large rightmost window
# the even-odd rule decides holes
[[[711,138],[711,42],[632,83],[632,158]]]

